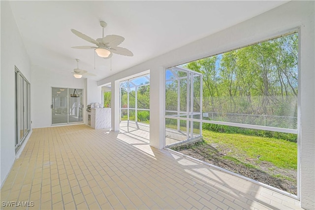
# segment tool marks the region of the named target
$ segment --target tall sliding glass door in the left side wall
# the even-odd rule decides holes
[[[15,67],[15,149],[31,130],[31,84]]]

